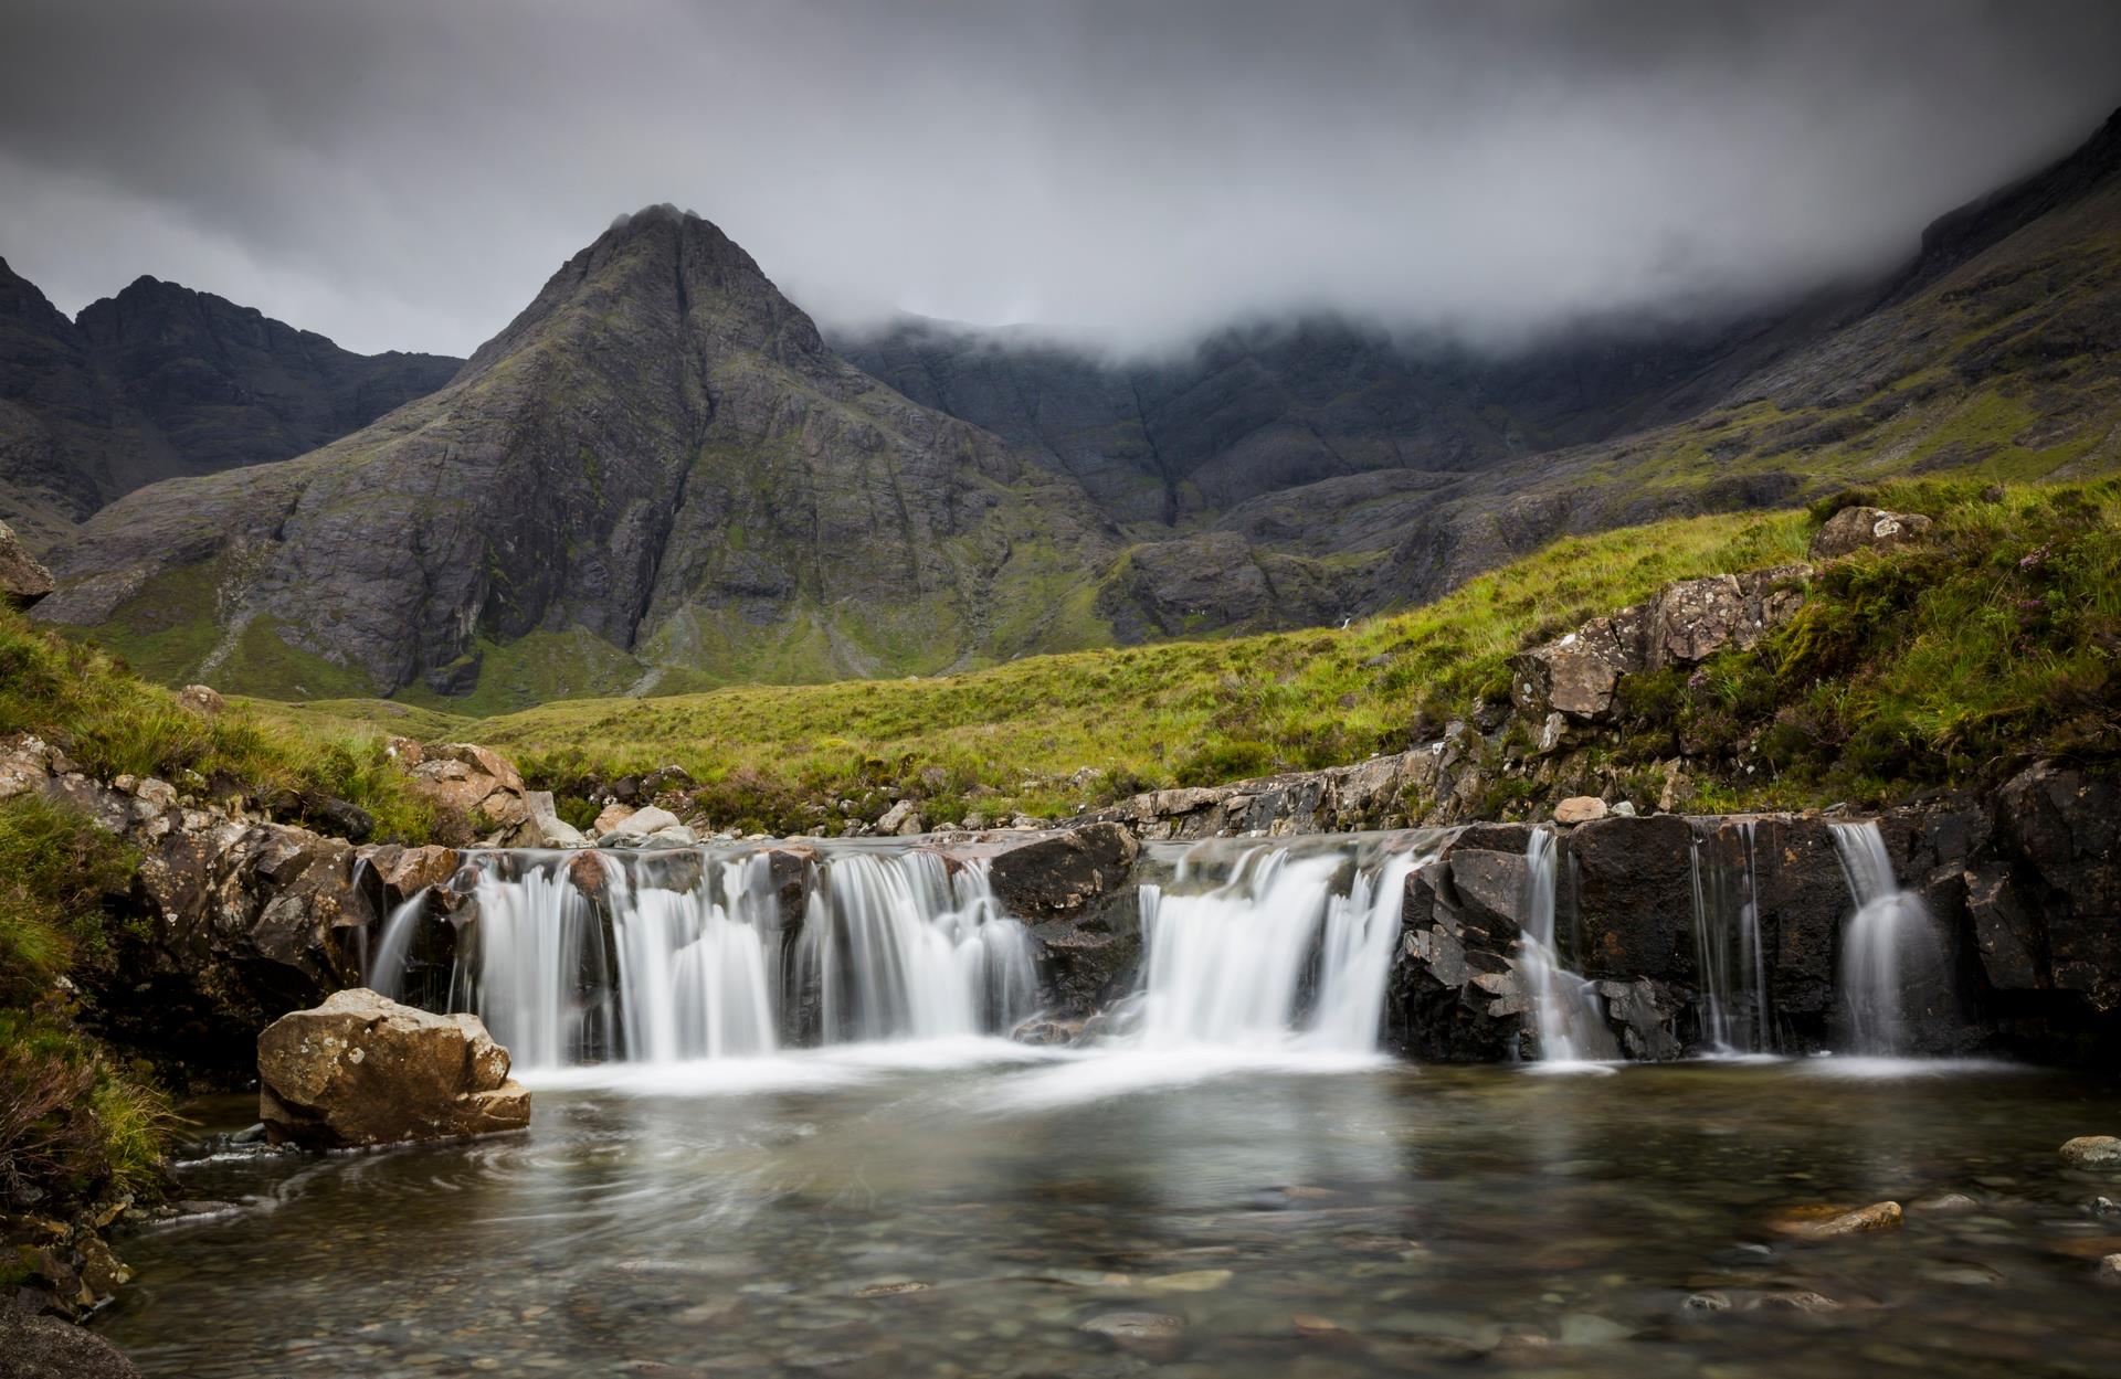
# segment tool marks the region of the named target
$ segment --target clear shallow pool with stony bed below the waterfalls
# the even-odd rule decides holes
[[[971,1042],[583,1070],[526,1135],[187,1167],[246,1207],[121,1241],[100,1326],[201,1377],[2121,1373],[2121,1218],[2083,1207],[2121,1184],[2055,1157],[2121,1093],[1862,1072]],[[1981,1207],[1769,1224],[1939,1190]],[[1750,1307],[1792,1292],[1839,1307]],[[1109,1313],[1184,1328],[1082,1330]]]

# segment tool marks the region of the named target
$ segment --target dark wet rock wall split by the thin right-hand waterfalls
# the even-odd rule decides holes
[[[2043,763],[1987,801],[1911,805],[1879,820],[1894,873],[1928,924],[1928,943],[1903,970],[1905,1053],[1994,1049],[2098,1063],[2121,1049],[2110,792],[2110,777]],[[1525,843],[1523,826],[1466,828],[1408,881],[1391,1029],[1410,1055],[1489,1059],[1519,1049]],[[1697,896],[1718,885],[1750,907],[1763,968],[1758,991],[1724,991],[1724,1002],[1758,1002],[1743,1006],[1746,1027],[1765,1023],[1786,1053],[1850,1046],[1837,968],[1854,902],[1830,820],[1610,816],[1565,828],[1557,849],[1561,960],[1597,983],[1629,1057],[1703,1046],[1710,979]],[[1735,915],[1712,909],[1707,921]]]

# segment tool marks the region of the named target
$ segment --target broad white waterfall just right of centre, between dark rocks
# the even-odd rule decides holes
[[[1207,852],[1179,858],[1169,890],[1141,888],[1135,1044],[1374,1051],[1417,854],[1258,845],[1192,890]]]

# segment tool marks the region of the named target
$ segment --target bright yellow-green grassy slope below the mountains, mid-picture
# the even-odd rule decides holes
[[[1695,574],[1796,559],[1803,513],[1720,515],[1561,540],[1444,599],[1362,625],[1027,657],[935,678],[577,699],[462,724],[534,777],[681,765],[717,822],[810,830],[827,801],[927,813],[1071,813],[1141,788],[1220,784],[1404,750],[1506,693],[1527,640]],[[358,710],[358,705],[339,705]],[[1082,769],[1094,784],[1071,777]]]

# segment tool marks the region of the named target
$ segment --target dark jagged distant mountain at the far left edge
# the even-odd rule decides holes
[[[49,544],[146,483],[316,449],[460,366],[352,354],[155,277],[68,320],[0,261],[0,517]]]

